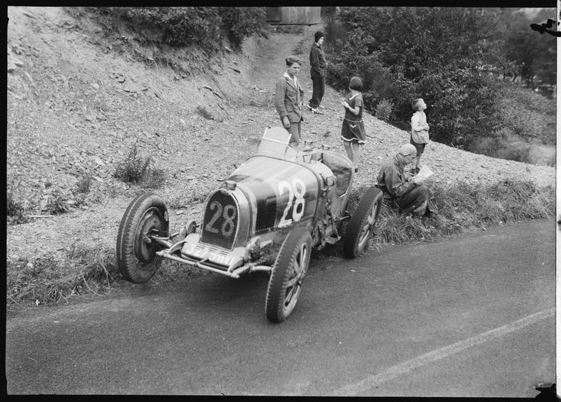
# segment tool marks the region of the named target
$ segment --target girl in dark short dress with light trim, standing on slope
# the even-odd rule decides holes
[[[360,77],[352,77],[349,81],[349,96],[341,101],[345,110],[341,138],[347,156],[353,161],[355,172],[358,171],[359,147],[365,142],[362,90],[363,80],[360,80]]]

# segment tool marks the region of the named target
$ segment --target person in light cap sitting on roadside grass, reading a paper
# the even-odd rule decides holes
[[[378,186],[391,195],[402,211],[420,218],[434,210],[430,207],[430,191],[423,181],[417,177],[409,179],[403,172],[403,168],[411,163],[416,154],[414,145],[402,145],[392,160],[381,167]]]

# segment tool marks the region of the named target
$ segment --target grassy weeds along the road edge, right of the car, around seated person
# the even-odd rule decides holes
[[[432,240],[470,228],[555,215],[555,189],[538,188],[529,180],[503,179],[489,186],[474,186],[465,181],[428,186],[431,203],[438,213],[421,221],[408,222],[395,204],[384,200],[371,246]],[[366,187],[358,188],[351,196],[350,210],[356,207],[365,191]]]

